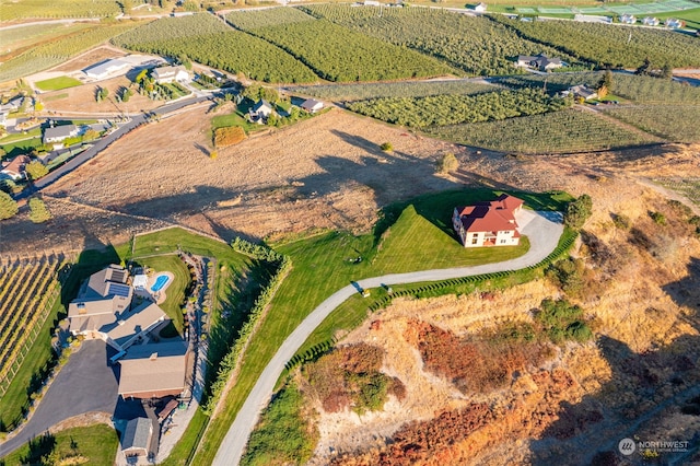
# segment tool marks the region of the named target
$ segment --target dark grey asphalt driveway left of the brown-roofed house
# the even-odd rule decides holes
[[[30,421],[16,435],[0,443],[0,457],[73,416],[91,411],[114,413],[118,383],[107,365],[108,354],[104,341],[84,341],[58,373]]]

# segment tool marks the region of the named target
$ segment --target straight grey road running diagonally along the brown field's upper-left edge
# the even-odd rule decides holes
[[[183,98],[182,101],[173,102],[171,104],[166,104],[161,107],[158,107],[156,109],[153,110],[153,113],[160,116],[167,116],[168,114],[172,114],[173,112],[177,112],[188,105],[198,104],[200,102],[205,102],[210,98],[211,96],[209,95],[200,95],[200,96],[195,96],[189,98]],[[105,150],[114,141],[121,138],[124,135],[128,133],[139,125],[142,125],[144,121],[145,121],[145,115],[139,114],[137,116],[133,116],[129,123],[120,126],[119,129],[114,131],[112,135],[106,136],[101,140],[96,141],[91,148],[84,150],[83,152],[75,155],[73,159],[69,160],[67,163],[65,163],[60,167],[56,168],[55,171],[44,176],[43,178],[38,179],[36,183],[34,183],[33,190],[25,189],[22,193],[20,193],[18,196],[15,196],[15,199],[19,200],[19,199],[30,197],[37,190],[40,190],[46,186],[54,184],[58,178],[71,173],[73,170],[78,168],[83,163],[95,158],[100,152]]]

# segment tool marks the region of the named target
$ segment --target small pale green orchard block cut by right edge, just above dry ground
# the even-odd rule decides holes
[[[634,105],[605,113],[672,142],[700,142],[700,105]]]

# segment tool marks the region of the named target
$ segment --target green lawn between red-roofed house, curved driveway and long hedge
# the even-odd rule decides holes
[[[560,210],[563,208],[563,202],[571,199],[562,194],[514,194],[538,210]],[[480,259],[472,259],[470,254],[483,253],[464,248],[459,251],[464,256],[456,258],[448,254],[435,254],[435,257],[429,257],[429,254],[416,254],[423,248],[424,244],[446,245],[453,241],[455,247],[458,247],[456,240],[446,231],[452,209],[457,205],[475,200],[492,199],[497,195],[498,193],[492,190],[470,189],[422,196],[385,209],[385,220],[380,222],[373,233],[353,236],[349,233],[330,232],[277,245],[275,247],[277,251],[292,258],[292,270],[275,295],[259,330],[250,339],[236,384],[222,400],[228,409],[210,421],[210,429],[200,444],[195,464],[211,463],[238,409],[279,345],[315,306],[338,289],[349,284],[351,280],[386,272],[406,272],[446,268],[456,264],[474,265],[501,260],[503,257],[501,255],[505,252],[495,249],[489,249]],[[416,213],[411,212],[409,206],[413,207]],[[405,211],[408,213],[404,214]],[[421,215],[422,219],[417,215]],[[420,221],[427,231],[421,235],[410,236],[415,232],[410,224],[412,221]],[[376,245],[386,231],[389,232],[388,237],[384,235],[385,244],[377,253]],[[524,254],[526,246],[509,249],[510,257],[515,257]],[[358,256],[363,257],[363,260],[360,264],[352,264],[350,259]],[[171,464],[182,464],[176,458],[172,461]]]

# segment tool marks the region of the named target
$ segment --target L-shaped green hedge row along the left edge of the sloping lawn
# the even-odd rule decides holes
[[[226,382],[231,377],[233,370],[238,364],[238,360],[243,354],[243,350],[247,346],[250,337],[253,336],[253,331],[257,326],[258,322],[264,315],[265,308],[272,300],[277,288],[282,282],[284,276],[289,271],[292,266],[292,261],[288,256],[277,253],[266,246],[253,244],[248,241],[236,237],[231,246],[238,253],[246,254],[250,257],[261,260],[268,260],[271,263],[278,263],[278,268],[267,287],[260,291],[260,294],[255,300],[253,304],[253,308],[248,314],[248,319],[241,330],[238,330],[238,337],[236,338],[236,342],[231,347],[226,356],[223,357],[221,363],[219,364],[219,371],[217,372],[217,378],[211,384],[209,389],[209,395],[207,397],[207,401],[203,405],[203,411],[208,416],[211,416],[217,404],[219,403],[219,398],[221,398],[221,394],[226,386]]]

